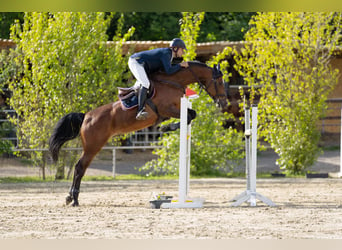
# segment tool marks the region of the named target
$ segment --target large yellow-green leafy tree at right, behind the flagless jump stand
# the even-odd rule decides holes
[[[249,85],[261,85],[260,136],[291,173],[319,155],[317,124],[337,83],[329,62],[341,39],[341,13],[259,13],[237,58]]]

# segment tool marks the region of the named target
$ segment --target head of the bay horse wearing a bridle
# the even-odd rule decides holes
[[[211,77],[208,78],[206,82],[200,84],[221,109],[226,109],[228,107],[228,103],[220,65],[214,65],[211,69]]]

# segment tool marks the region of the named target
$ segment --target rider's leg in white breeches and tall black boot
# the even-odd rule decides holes
[[[134,77],[137,79],[137,82],[135,85],[140,84],[140,90],[139,90],[139,96],[138,96],[138,113],[136,116],[137,120],[145,120],[148,116],[148,113],[145,111],[145,102],[147,98],[147,91],[150,87],[150,81],[147,77],[147,74],[145,72],[144,66],[137,62],[134,58],[130,58],[128,60],[128,66],[134,75]]]

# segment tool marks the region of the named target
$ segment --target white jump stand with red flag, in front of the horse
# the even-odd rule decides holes
[[[170,203],[163,203],[161,208],[203,207],[204,199],[188,197],[190,188],[191,150],[191,124],[188,125],[188,108],[191,108],[191,101],[189,99],[194,99],[198,96],[195,95],[193,91],[191,91],[191,95],[189,93],[187,93],[187,95],[184,95],[181,98],[178,200],[172,200]]]

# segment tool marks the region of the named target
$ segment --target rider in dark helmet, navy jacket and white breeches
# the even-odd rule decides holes
[[[165,71],[167,74],[173,74],[181,69],[187,68],[187,62],[171,65],[172,59],[175,57],[182,57],[186,50],[183,40],[174,38],[169,48],[158,48],[153,50],[141,51],[133,54],[128,60],[128,67],[134,77],[137,79],[135,83],[136,88],[140,88],[138,96],[138,113],[137,120],[145,120],[148,113],[145,111],[145,101],[147,98],[147,91],[150,87],[148,75],[159,70]]]

